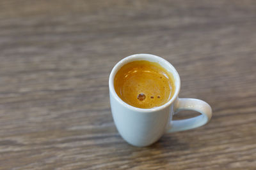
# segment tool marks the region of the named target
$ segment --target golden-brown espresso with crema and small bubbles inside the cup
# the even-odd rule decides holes
[[[175,91],[173,76],[157,62],[135,60],[115,75],[116,94],[136,108],[154,108],[167,103]]]

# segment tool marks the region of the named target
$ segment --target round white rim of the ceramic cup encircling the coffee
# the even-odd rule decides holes
[[[145,59],[141,59],[141,57],[145,57]],[[131,106],[130,104],[125,103],[116,94],[116,90],[115,90],[115,87],[114,87],[114,78],[115,78],[115,75],[116,75],[117,71],[122,66],[124,66],[124,64],[132,62],[134,60],[148,60],[147,59],[148,57],[156,59],[156,60],[160,60],[161,62],[164,62],[168,65],[168,67],[170,67],[170,69],[172,69],[173,72],[171,72],[171,73],[173,74],[173,78],[175,80],[175,92],[174,92],[174,95],[173,95],[172,99],[170,99],[170,101],[168,101],[167,103],[164,103],[161,106],[157,106],[157,107],[154,107],[154,108],[148,108],[148,109],[136,108],[134,106]],[[120,60],[119,62],[117,62],[115,64],[115,66],[113,67],[113,69],[111,70],[111,73],[109,75],[109,92],[112,94],[113,97],[115,97],[116,101],[118,101],[120,104],[122,104],[123,106],[125,106],[125,108],[128,108],[129,110],[145,112],[145,113],[152,112],[152,111],[159,111],[159,110],[163,110],[164,108],[170,106],[170,104],[172,104],[175,101],[175,99],[178,97],[179,92],[180,92],[180,76],[179,76],[179,73],[177,72],[177,70],[175,69],[175,67],[173,67],[172,64],[170,64],[170,62],[163,59],[162,57],[159,57],[157,55],[152,55],[152,54],[149,54],[149,53],[137,53],[137,54],[134,54],[134,55],[129,55],[128,57],[125,57],[124,59]]]

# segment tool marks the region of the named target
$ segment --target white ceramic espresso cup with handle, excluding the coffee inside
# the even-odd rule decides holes
[[[134,60],[157,62],[173,74],[175,94],[170,101],[156,108],[142,109],[135,108],[118,97],[114,88],[115,74],[122,66]],[[148,146],[161,138],[164,132],[185,131],[207,124],[212,116],[211,106],[199,99],[180,99],[179,91],[179,74],[172,64],[163,58],[140,53],[120,60],[109,76],[109,96],[113,119],[122,138],[134,146]],[[172,120],[173,115],[182,110],[198,111],[201,115],[184,120]]]

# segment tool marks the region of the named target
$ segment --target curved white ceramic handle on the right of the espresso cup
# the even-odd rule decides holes
[[[191,98],[177,98],[174,104],[174,114],[182,110],[198,111],[202,115],[184,120],[172,120],[167,132],[186,131],[207,124],[212,117],[211,106],[205,101]]]

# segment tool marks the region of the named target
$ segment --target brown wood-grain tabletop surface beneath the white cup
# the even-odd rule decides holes
[[[171,62],[211,122],[128,145],[108,76],[134,53]],[[253,0],[0,2],[0,169],[256,169],[255,92]]]

